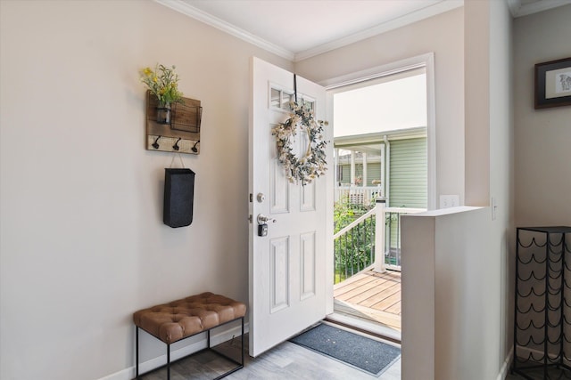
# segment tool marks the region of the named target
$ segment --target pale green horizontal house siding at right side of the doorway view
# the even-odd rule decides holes
[[[426,208],[426,137],[391,141],[389,206]]]

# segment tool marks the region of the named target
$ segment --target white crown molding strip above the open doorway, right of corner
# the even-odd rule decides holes
[[[368,28],[367,30],[363,30],[362,32],[355,33],[351,36],[340,38],[328,44],[319,45],[302,53],[297,53],[295,54],[294,61],[303,61],[313,56],[327,53],[340,47],[346,46],[348,44],[354,44],[369,37],[377,36],[390,30],[401,28],[414,22],[433,17],[437,14],[451,11],[463,5],[464,0],[443,0],[439,3],[428,5],[426,8],[420,9],[418,11],[410,12],[409,14],[401,16],[398,19],[390,20],[383,24],[377,25],[376,27]]]

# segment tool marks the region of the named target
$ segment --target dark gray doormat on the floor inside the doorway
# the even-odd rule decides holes
[[[401,356],[401,349],[329,325],[319,324],[290,342],[343,361],[374,376]]]

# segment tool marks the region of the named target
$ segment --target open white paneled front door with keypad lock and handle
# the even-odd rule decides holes
[[[294,74],[252,58],[251,78],[249,334],[255,357],[326,315],[327,287],[333,284],[326,271],[327,199],[333,196],[327,195],[332,174],[305,186],[290,183],[277,160],[271,129],[289,117]],[[324,120],[325,89],[302,77],[296,82],[298,101],[312,102],[315,117]],[[326,139],[329,163],[333,133],[326,131]],[[307,135],[297,133],[296,140],[294,151],[301,155]],[[258,215],[269,218],[266,236],[259,236]]]

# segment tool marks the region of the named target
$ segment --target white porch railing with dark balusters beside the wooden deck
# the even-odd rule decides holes
[[[335,283],[374,265],[375,271],[401,270],[401,215],[423,208],[385,207],[377,203],[334,235]],[[377,223],[377,221],[383,223]],[[381,226],[385,225],[383,229]],[[377,226],[381,227],[377,229]],[[379,247],[380,249],[377,249]]]

